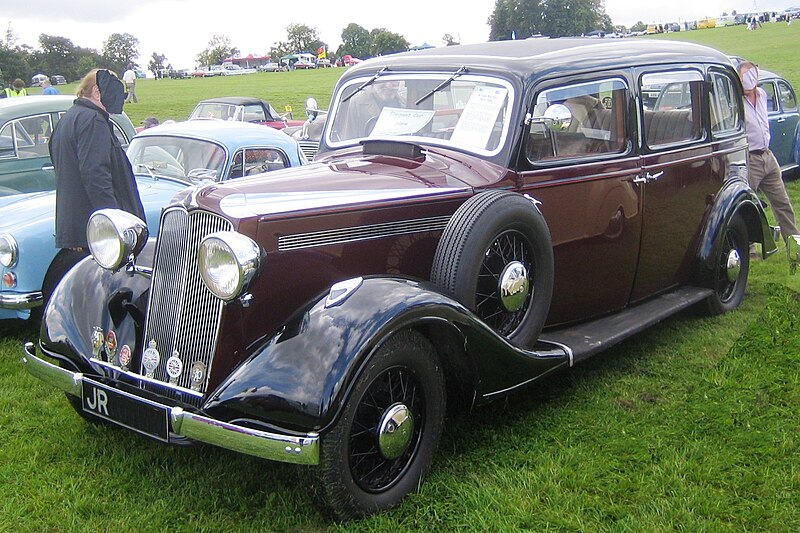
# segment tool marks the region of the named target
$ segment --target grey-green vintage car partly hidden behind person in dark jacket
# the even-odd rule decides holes
[[[74,96],[26,96],[0,100],[0,205],[5,198],[55,188],[47,141]],[[111,115],[114,134],[128,146],[136,130],[125,115]]]

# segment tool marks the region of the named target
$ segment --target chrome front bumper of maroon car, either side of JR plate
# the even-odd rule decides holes
[[[33,376],[77,398],[84,375],[60,368],[36,355],[33,343],[25,343],[22,363]],[[145,400],[142,400],[144,403]],[[161,406],[169,412],[171,433],[179,438],[213,444],[247,455],[294,464],[319,463],[319,435],[282,435],[222,422],[181,407]],[[114,422],[114,420],[110,420]]]

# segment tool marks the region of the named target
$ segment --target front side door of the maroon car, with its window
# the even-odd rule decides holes
[[[548,325],[628,303],[642,221],[630,102],[623,74],[556,82],[532,102],[519,169],[553,242]]]

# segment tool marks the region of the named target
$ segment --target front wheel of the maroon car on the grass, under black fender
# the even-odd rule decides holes
[[[390,337],[372,355],[338,422],[322,439],[317,469],[322,503],[342,520],[397,505],[430,470],[445,404],[444,374],[430,342],[411,330]],[[387,413],[397,406],[408,408],[411,424],[404,425],[407,440],[390,442],[394,448],[387,457],[378,429],[387,427]]]

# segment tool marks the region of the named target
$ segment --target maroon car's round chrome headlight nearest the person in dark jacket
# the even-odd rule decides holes
[[[131,254],[141,252],[147,236],[143,220],[119,209],[95,211],[86,226],[89,251],[97,264],[108,270],[118,269]]]

